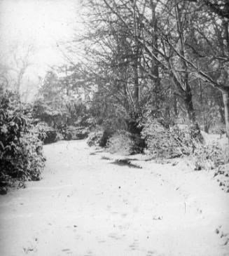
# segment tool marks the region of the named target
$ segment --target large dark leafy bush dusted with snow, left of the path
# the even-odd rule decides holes
[[[44,166],[43,143],[25,105],[15,95],[0,97],[0,186],[15,180],[39,180]]]

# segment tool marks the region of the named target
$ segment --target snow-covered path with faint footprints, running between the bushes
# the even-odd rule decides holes
[[[212,174],[92,151],[48,145],[43,180],[0,197],[1,256],[229,255],[229,194]]]

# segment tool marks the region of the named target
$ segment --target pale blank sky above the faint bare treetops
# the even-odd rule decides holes
[[[34,46],[32,62],[37,71],[58,64],[58,47],[71,40],[78,23],[78,0],[0,0],[0,50],[12,45]]]

